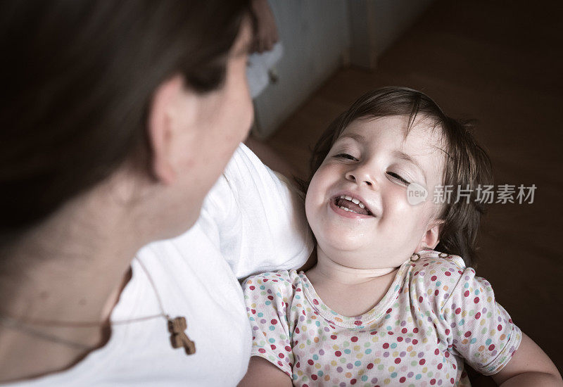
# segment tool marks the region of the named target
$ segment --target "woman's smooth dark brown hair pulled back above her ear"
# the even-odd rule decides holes
[[[0,246],[132,158],[153,91],[218,89],[248,0],[2,1]]]

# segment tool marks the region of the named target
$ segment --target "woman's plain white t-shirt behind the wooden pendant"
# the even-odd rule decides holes
[[[303,265],[313,248],[303,214],[297,192],[241,144],[194,227],[137,253],[164,311],[186,317],[196,353],[171,347],[163,317],[116,324],[108,343],[74,367],[9,386],[235,386],[252,345],[238,279]],[[114,322],[160,313],[137,260],[132,272]]]

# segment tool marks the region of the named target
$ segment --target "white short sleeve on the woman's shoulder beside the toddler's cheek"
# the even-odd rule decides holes
[[[314,246],[299,192],[243,144],[198,220],[237,278],[301,267]]]

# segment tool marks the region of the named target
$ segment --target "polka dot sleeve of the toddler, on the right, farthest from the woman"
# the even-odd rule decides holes
[[[521,331],[495,301],[491,284],[464,269],[443,307],[446,334],[454,353],[484,375],[505,367],[521,341]]]

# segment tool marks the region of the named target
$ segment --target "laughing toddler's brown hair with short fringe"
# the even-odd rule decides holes
[[[310,177],[327,157],[332,145],[344,129],[354,120],[374,119],[393,115],[407,116],[408,125],[405,137],[412,129],[417,116],[429,122],[433,129],[441,131],[445,152],[443,185],[466,189],[469,185],[469,203],[462,198],[457,203],[452,200],[443,203],[438,219],[444,220],[440,231],[440,243],[436,250],[460,255],[467,265],[476,261],[476,240],[479,234],[481,214],[484,205],[476,201],[476,187],[493,184],[491,160],[472,136],[469,122],[454,120],[443,113],[436,102],[420,91],[406,87],[384,87],[363,95],[348,110],[331,122],[312,151]],[[305,183],[305,190],[308,186]],[[457,193],[457,191],[455,191]]]

